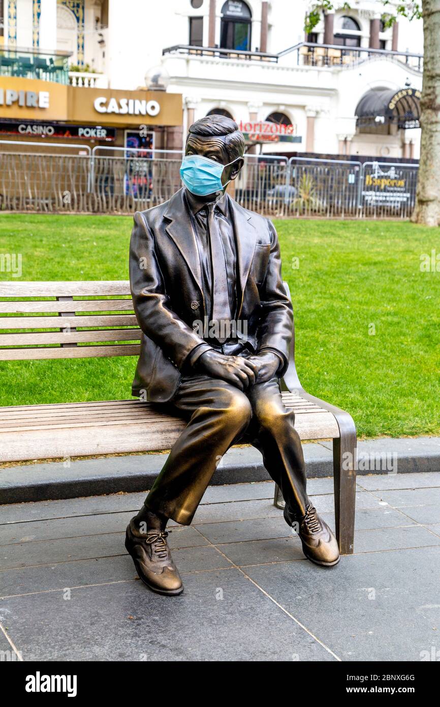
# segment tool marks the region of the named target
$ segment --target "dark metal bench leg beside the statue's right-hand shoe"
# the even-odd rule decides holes
[[[333,440],[335,529],[341,555],[351,555],[355,535],[356,431],[340,431]]]

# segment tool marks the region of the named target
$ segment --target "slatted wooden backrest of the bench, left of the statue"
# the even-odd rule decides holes
[[[140,338],[128,280],[0,283],[0,361],[137,356]]]

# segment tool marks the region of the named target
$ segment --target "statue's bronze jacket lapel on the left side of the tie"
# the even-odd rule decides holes
[[[170,223],[165,226],[167,234],[174,240],[174,243],[182,253],[189,267],[189,271],[203,295],[200,257],[198,255],[196,236],[194,235],[188,207],[184,200],[183,189],[179,189],[178,192],[172,195],[167,210],[164,213],[164,218],[170,221]]]

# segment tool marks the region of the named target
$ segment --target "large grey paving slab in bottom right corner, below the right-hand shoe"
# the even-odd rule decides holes
[[[246,568],[342,660],[420,661],[438,644],[440,547]],[[415,581],[415,578],[417,580]]]

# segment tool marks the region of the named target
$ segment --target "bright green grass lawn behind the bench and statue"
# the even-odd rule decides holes
[[[131,223],[2,214],[0,253],[22,254],[22,280],[128,279]],[[302,385],[350,411],[359,436],[440,434],[440,272],[420,271],[422,253],[440,252],[439,230],[400,221],[275,226]],[[1,405],[129,398],[134,366],[129,357],[1,362]]]

